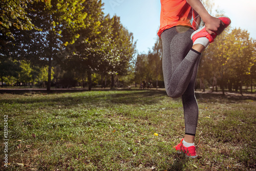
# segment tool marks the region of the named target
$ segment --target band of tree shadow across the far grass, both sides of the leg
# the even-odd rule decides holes
[[[12,90],[16,91],[14,94],[23,94],[24,96],[33,96],[33,94],[43,94],[45,96],[38,98],[33,96],[31,98],[19,98],[19,99],[2,99],[1,103],[40,103],[44,102],[46,105],[53,105],[54,103],[57,105],[77,105],[77,104],[95,104],[95,103],[108,103],[108,104],[154,104],[159,100],[167,97],[167,94],[164,90],[116,90],[113,91],[81,91],[81,90],[60,90],[58,92],[52,92],[51,94],[56,94],[56,96],[48,96],[49,94],[44,94],[38,90],[37,93],[28,92],[26,90]],[[23,93],[22,93],[23,92]],[[26,94],[26,93],[27,94]],[[80,92],[81,94],[72,93]],[[96,93],[95,93],[96,92]],[[102,92],[102,93],[101,93]],[[104,92],[113,92],[113,93],[104,93]],[[123,92],[123,93],[122,93]],[[66,96],[58,96],[60,93],[70,93]],[[237,94],[228,94],[223,96],[218,93],[196,93],[196,97],[200,102],[208,101],[208,100],[220,100],[226,103],[239,102],[241,100],[256,100],[256,96],[253,94],[248,95],[237,95]],[[179,100],[180,98],[173,99]]]

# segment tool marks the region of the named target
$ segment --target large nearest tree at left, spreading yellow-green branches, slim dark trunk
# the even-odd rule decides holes
[[[52,67],[72,55],[73,50],[69,49],[69,45],[81,40],[77,33],[81,28],[90,30],[99,25],[94,14],[97,10],[101,11],[101,6],[101,1],[96,0],[55,0],[49,6],[41,2],[33,3],[27,9],[32,23],[40,30],[22,32],[24,36],[19,34],[17,46],[33,65],[48,65],[48,91],[51,87]],[[82,41],[84,39],[86,37]]]

